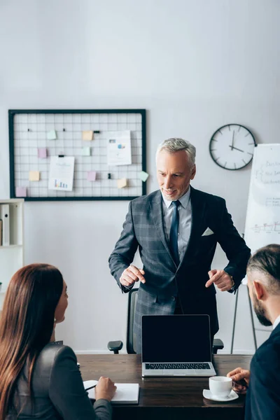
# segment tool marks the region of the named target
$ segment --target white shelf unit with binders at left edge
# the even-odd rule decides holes
[[[16,271],[18,271],[18,269],[20,269],[24,265],[24,202],[25,200],[22,199],[0,200],[0,218],[3,218],[3,211],[1,211],[1,209],[3,209],[2,206],[8,204],[8,228],[10,233],[9,245],[6,244],[5,246],[0,246],[0,311],[3,306],[4,296],[11,277],[13,276],[13,274],[15,274]]]

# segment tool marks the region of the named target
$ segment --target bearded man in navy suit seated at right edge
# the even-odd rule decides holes
[[[246,420],[279,420],[280,245],[260,248],[248,262],[247,278],[255,314],[262,325],[273,325],[273,331],[255,352],[251,372],[237,367],[228,377],[234,381],[235,391],[247,393]]]

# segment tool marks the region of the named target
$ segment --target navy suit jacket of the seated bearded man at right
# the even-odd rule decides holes
[[[280,324],[251,361],[245,420],[280,419]]]

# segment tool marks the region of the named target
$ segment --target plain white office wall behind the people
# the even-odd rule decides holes
[[[251,167],[211,160],[211,134],[246,125],[279,141],[280,3],[277,0],[2,0],[0,3],[0,197],[9,197],[8,109],[145,108],[148,191],[157,188],[160,141],[197,146],[193,186],[223,196],[244,232]],[[62,270],[69,285],[57,335],[76,351],[125,339],[127,296],[107,260],[127,202],[25,204],[26,263]],[[225,258],[218,251],[213,267]],[[253,351],[242,286],[236,351]],[[218,293],[219,337],[230,349],[234,297]]]

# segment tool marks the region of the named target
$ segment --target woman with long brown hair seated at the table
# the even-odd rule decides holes
[[[111,419],[111,379],[99,379],[92,407],[73,350],[54,343],[66,289],[48,264],[27,265],[10,280],[0,323],[0,420]]]

